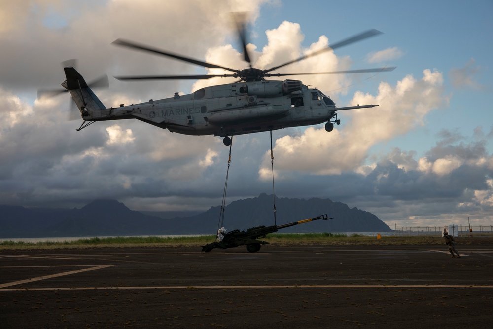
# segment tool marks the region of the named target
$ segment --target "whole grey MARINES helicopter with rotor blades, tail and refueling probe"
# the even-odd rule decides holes
[[[170,79],[210,79],[213,77],[233,77],[238,81],[214,85],[160,100],[106,108],[91,90],[80,73],[72,66],[64,67],[67,80],[62,86],[69,91],[84,122],[77,131],[96,121],[138,119],[156,127],[168,129],[185,135],[214,135],[223,138],[226,146],[231,145],[231,137],[241,134],[272,131],[287,127],[317,125],[325,123],[325,130],[334,129],[334,123],[340,124],[337,111],[372,108],[378,105],[357,105],[338,108],[323,92],[309,88],[300,80],[266,80],[271,77],[342,74],[392,71],[395,67],[383,67],[363,70],[317,72],[317,73],[271,73],[289,64],[317,56],[353,42],[381,34],[377,30],[368,30],[349,37],[328,47],[304,55],[281,65],[260,70],[252,66],[251,57],[246,48],[245,24],[237,24],[239,39],[243,47],[244,60],[249,64],[246,69],[232,69],[207,63],[191,57],[150,47],[124,39],[113,44],[130,49],[171,57],[179,61],[205,68],[220,68],[229,74],[209,75],[159,75],[159,76],[115,76],[118,80],[170,80]],[[231,137],[229,137],[231,136]]]

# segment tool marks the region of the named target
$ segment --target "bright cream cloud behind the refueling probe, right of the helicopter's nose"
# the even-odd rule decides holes
[[[420,80],[408,75],[394,87],[382,82],[375,96],[358,91],[350,105],[380,106],[339,112],[341,117],[350,117],[343,129],[328,133],[323,126],[309,127],[300,134],[277,139],[274,149],[280,163],[277,168],[317,175],[354,171],[364,164],[372,146],[422,125],[425,115],[444,101],[447,102],[447,97],[442,74],[430,70],[424,70]],[[262,177],[268,167],[264,161],[260,169]]]

